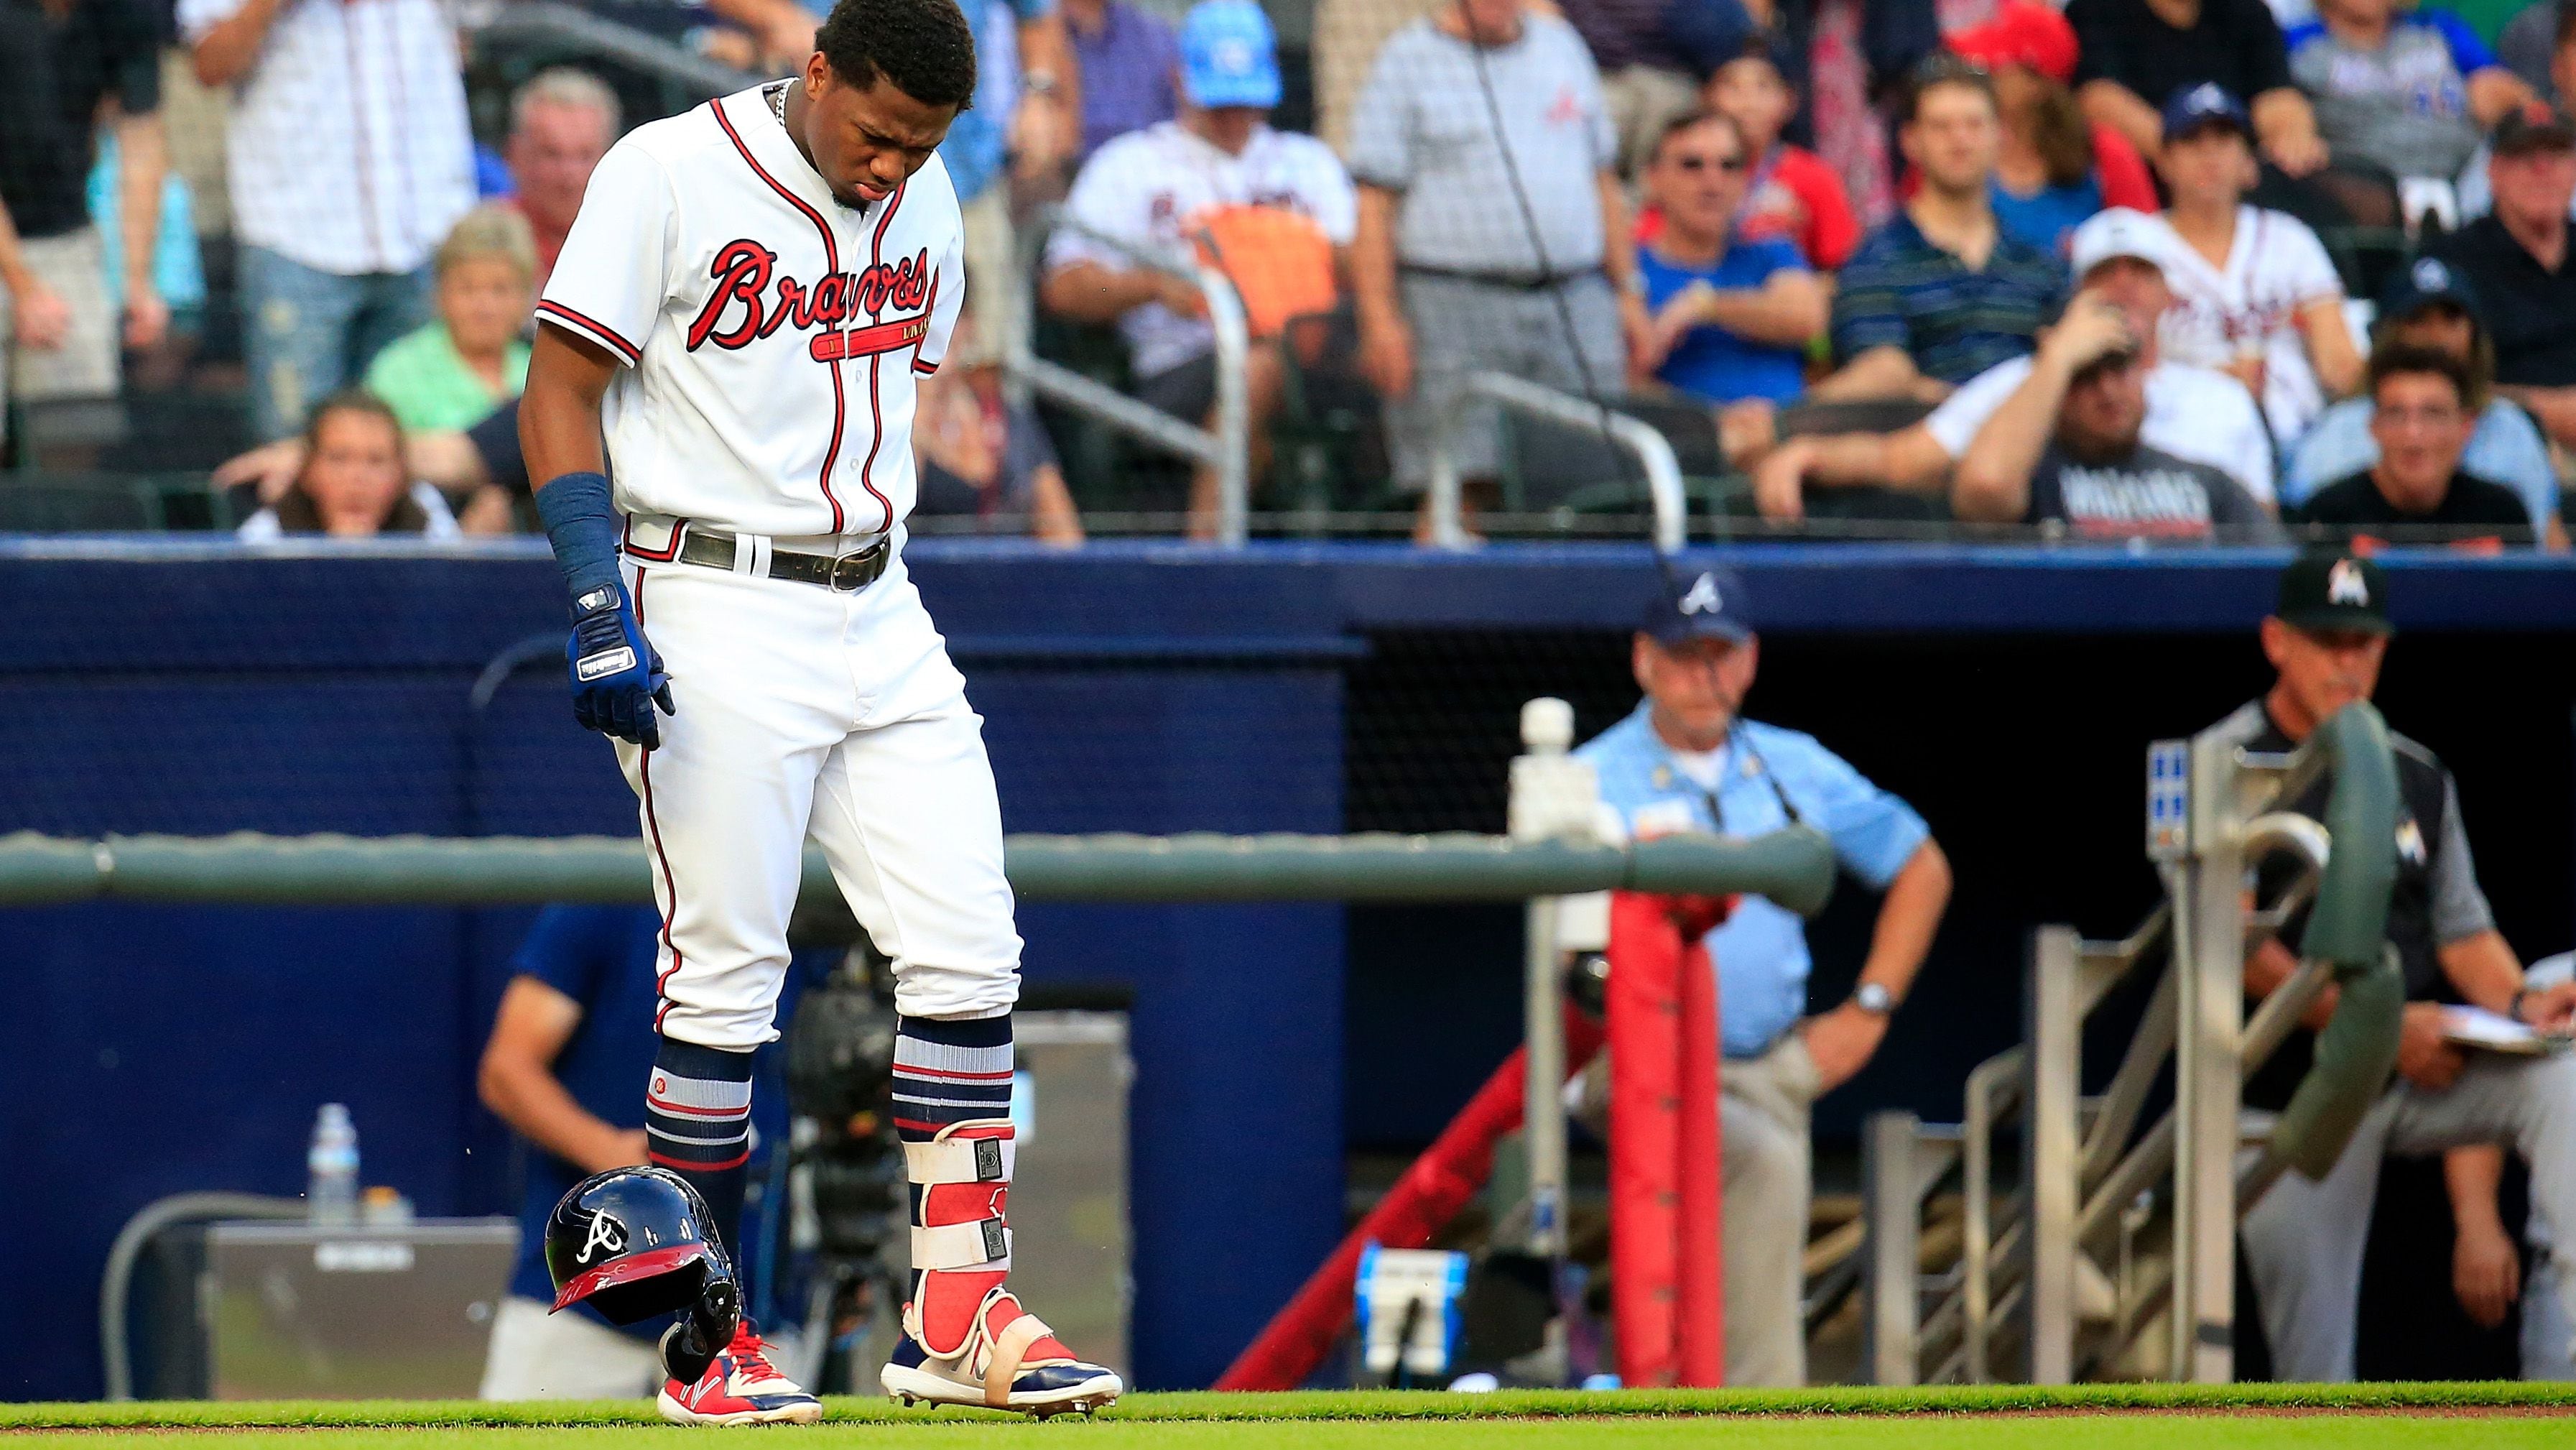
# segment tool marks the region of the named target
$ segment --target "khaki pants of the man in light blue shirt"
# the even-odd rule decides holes
[[[1806,1223],[1814,1195],[1806,1138],[1816,1089],[1816,1059],[1798,1033],[1721,1071],[1728,1386],[1806,1383]],[[1574,1115],[1602,1133],[1610,1053],[1592,1059],[1566,1097]]]

